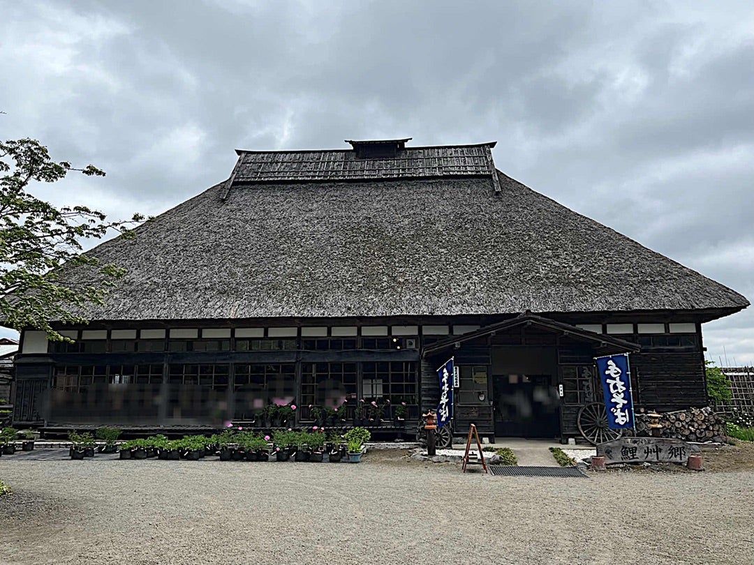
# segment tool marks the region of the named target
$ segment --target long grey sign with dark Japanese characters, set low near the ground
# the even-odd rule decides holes
[[[597,446],[597,456],[611,463],[686,463],[699,446],[680,439],[619,438]]]

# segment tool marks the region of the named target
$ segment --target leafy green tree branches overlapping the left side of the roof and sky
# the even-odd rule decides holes
[[[125,271],[114,264],[82,253],[81,240],[100,239],[110,230],[133,237],[130,226],[142,221],[107,221],[102,212],[86,206],[60,209],[29,194],[32,182],[56,182],[70,171],[87,176],[105,176],[88,165],[75,169],[71,163],[55,163],[48,150],[34,139],[0,142],[0,314],[3,325],[19,331],[36,328],[48,338],[66,338],[49,320],[85,323],[72,312],[87,304],[103,304],[109,289]],[[87,286],[66,288],[59,281],[63,264],[92,269]]]

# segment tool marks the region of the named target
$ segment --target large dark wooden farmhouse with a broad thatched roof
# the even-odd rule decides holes
[[[706,405],[701,323],[746,298],[505,176],[494,143],[408,142],[238,151],[227,180],[93,249],[127,274],[60,328],[74,343],[24,332],[15,420],[268,429],[296,402],[289,425],[400,405],[400,430],[437,407],[450,356],[459,434],[593,441],[593,360],[613,353],[637,407]]]

